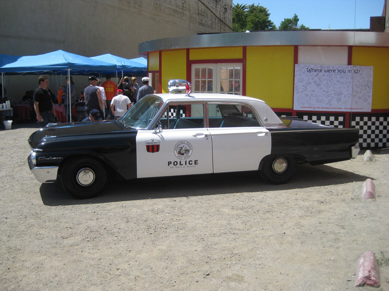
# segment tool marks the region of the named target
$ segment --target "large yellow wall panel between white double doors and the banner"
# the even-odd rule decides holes
[[[272,108],[293,108],[293,47],[248,47],[246,95]]]

